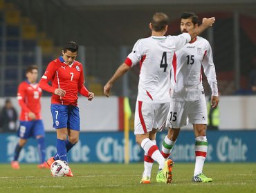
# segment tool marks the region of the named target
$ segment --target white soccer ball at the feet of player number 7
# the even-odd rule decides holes
[[[52,176],[60,177],[68,174],[69,167],[66,161],[56,160],[51,165],[51,174]]]

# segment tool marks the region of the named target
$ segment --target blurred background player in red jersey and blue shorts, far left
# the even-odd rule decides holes
[[[26,70],[26,81],[19,84],[17,99],[21,106],[21,114],[19,116],[20,126],[17,132],[19,142],[15,148],[15,156],[11,162],[13,169],[19,169],[19,153],[24,147],[28,138],[34,136],[37,139],[39,150],[39,168],[48,167],[45,162],[45,145],[44,145],[44,124],[41,115],[42,89],[39,88],[37,81],[38,68],[36,65],[31,65]]]

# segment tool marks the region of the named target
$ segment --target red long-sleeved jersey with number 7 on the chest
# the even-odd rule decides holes
[[[51,81],[52,85],[48,85],[49,81]],[[88,96],[88,90],[84,87],[82,64],[74,61],[71,65],[68,65],[62,57],[48,64],[39,82],[39,87],[53,93],[51,99],[53,104],[77,105],[78,92]],[[65,90],[65,96],[62,97],[54,94],[56,88]]]

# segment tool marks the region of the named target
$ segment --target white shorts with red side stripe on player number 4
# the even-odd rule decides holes
[[[136,102],[134,115],[134,134],[145,134],[153,128],[163,130],[170,109],[170,103],[145,103]]]

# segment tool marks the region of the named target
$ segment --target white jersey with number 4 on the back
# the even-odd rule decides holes
[[[140,62],[138,100],[147,103],[170,102],[170,70],[174,52],[190,41],[188,33],[179,36],[148,37],[139,39],[125,63]]]

